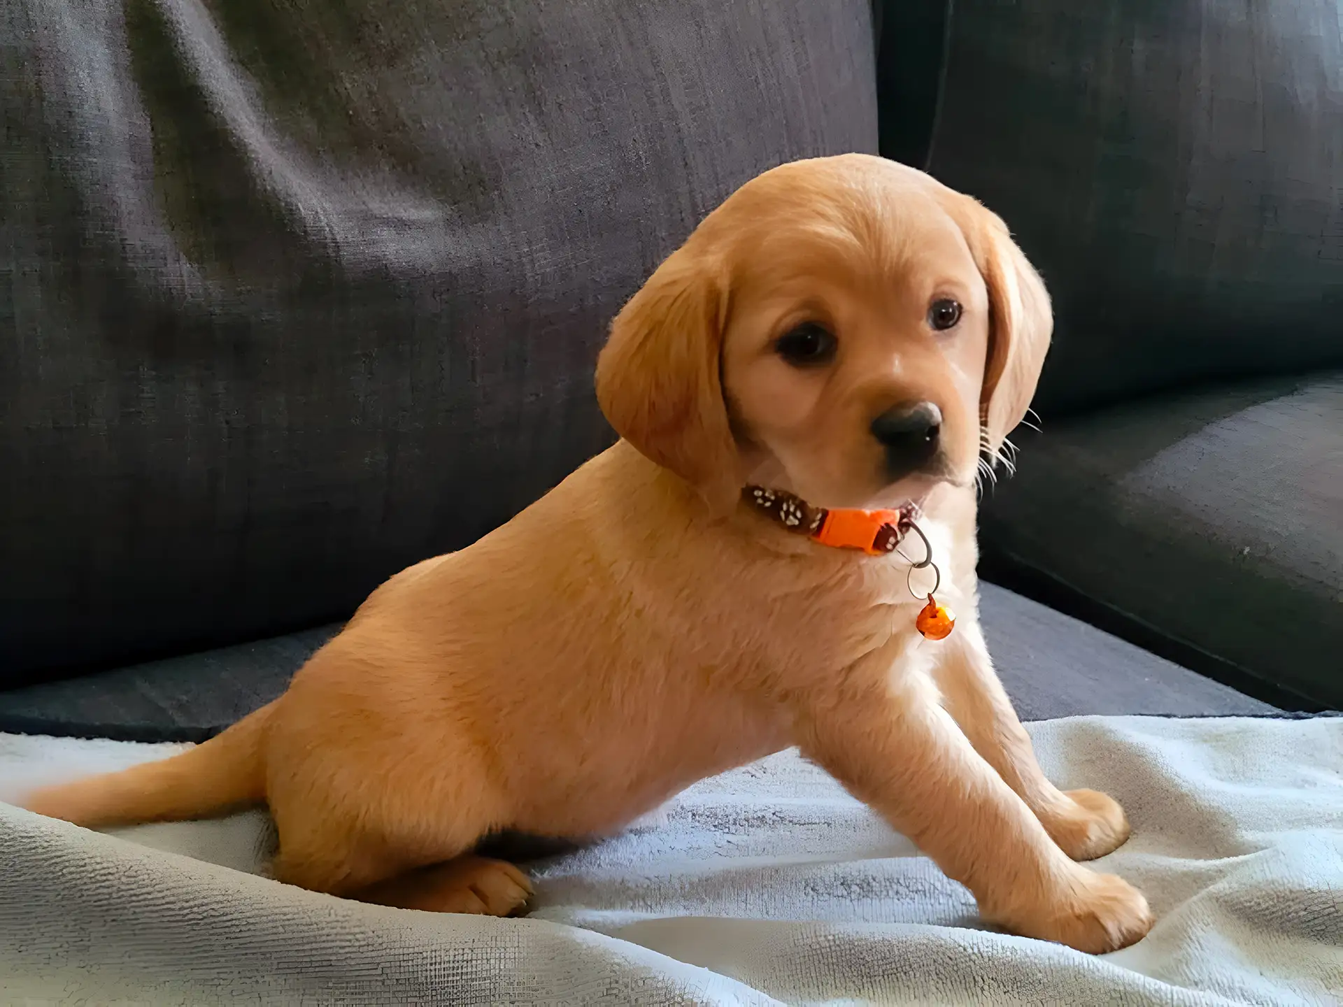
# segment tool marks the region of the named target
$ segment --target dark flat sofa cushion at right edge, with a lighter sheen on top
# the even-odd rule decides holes
[[[986,556],[1343,705],[1343,375],[1154,399],[1018,442],[1017,475],[982,509]]]

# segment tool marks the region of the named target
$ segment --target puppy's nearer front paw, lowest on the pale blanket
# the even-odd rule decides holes
[[[1064,896],[1001,922],[1025,937],[1104,955],[1140,941],[1155,917],[1143,893],[1115,874],[1077,869]]]

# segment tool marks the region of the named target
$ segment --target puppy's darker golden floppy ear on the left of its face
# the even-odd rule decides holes
[[[673,252],[615,317],[596,363],[598,403],[615,432],[716,513],[741,491],[720,379],[724,286],[714,263]]]

